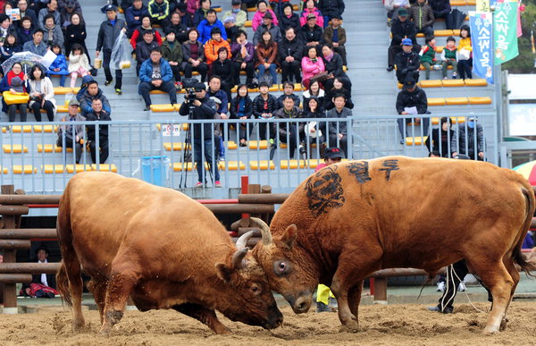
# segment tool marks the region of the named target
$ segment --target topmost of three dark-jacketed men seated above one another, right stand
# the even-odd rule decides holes
[[[417,45],[417,29],[413,21],[407,20],[407,10],[401,8],[398,10],[398,19],[392,21],[391,24],[391,44],[388,49],[388,67],[387,71],[391,72],[395,69],[395,56],[402,51],[402,39],[409,38],[413,42],[414,52],[419,52],[421,46]]]

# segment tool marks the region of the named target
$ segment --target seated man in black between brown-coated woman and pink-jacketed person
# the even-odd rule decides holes
[[[301,59],[303,57],[303,42],[297,38],[294,28],[285,31],[285,38],[279,46],[279,59],[281,63],[281,81],[289,80],[301,83]]]

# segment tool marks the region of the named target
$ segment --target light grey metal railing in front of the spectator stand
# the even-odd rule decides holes
[[[65,126],[66,131],[60,138],[64,143],[65,134],[73,131],[79,122],[2,123],[0,184],[14,184],[27,193],[61,193],[73,174],[93,170],[113,171],[173,189],[191,188],[197,181],[205,181],[205,189],[214,189],[217,167],[224,188],[239,188],[240,176],[248,175],[251,183],[271,185],[274,192],[288,192],[323,162],[323,148],[344,146],[344,140],[348,141],[348,159],[428,156],[428,149],[420,143],[432,129],[439,127],[436,118],[440,115],[419,116],[429,119],[431,126],[425,132],[424,121],[411,122],[407,126],[411,139],[406,139],[405,144],[400,143],[397,123],[398,119],[405,118],[399,115],[214,122],[188,120],[173,114],[172,119],[165,122],[91,122],[91,125],[83,122],[86,127],[95,127],[96,148],[104,147],[99,136],[101,126],[108,128],[109,157],[103,164],[104,153],[97,150],[99,165],[92,165],[87,131],[80,136],[84,142],[80,165],[76,165],[72,148],[56,146],[58,127]],[[455,127],[467,130],[466,119],[456,118]],[[322,131],[322,135],[318,131],[316,137],[305,133],[309,133],[311,122],[316,122],[315,129]],[[486,143],[485,159],[497,164],[495,116],[478,114],[478,122]],[[274,128],[278,131],[272,131]],[[349,136],[339,138],[337,133],[344,132],[345,128]],[[247,140],[246,147],[240,146],[240,132]],[[205,137],[206,140],[200,140]],[[475,141],[476,137],[466,138],[465,146],[469,147],[471,140]],[[455,146],[459,147],[459,142]],[[455,150],[448,148],[448,151]],[[205,167],[199,170],[200,177],[197,166]]]

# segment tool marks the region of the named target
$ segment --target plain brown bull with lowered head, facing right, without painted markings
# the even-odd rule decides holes
[[[263,269],[205,207],[178,191],[114,173],[76,174],[63,192],[57,222],[63,266],[57,274],[84,326],[82,271],[109,333],[131,296],[142,311],[173,308],[214,333],[228,333],[214,310],[233,321],[282,323]],[[238,249],[237,249],[238,248]]]

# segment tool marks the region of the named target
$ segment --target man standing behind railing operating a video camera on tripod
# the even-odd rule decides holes
[[[189,119],[213,120],[217,116],[217,105],[206,95],[205,84],[197,82],[190,88],[186,84],[185,87],[185,102],[180,105],[179,114],[189,115]],[[206,183],[206,178],[205,181],[203,179],[203,156],[205,156],[205,162],[208,164],[210,173],[213,172],[214,123],[195,123],[191,131],[194,142],[194,161],[197,165],[197,183],[195,187],[203,188]],[[214,165],[214,187],[222,187],[217,163]]]

